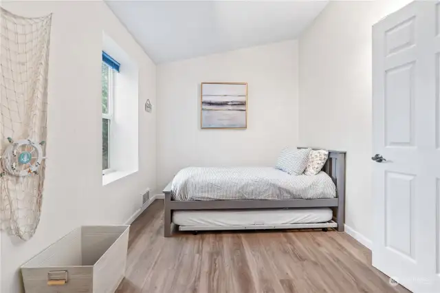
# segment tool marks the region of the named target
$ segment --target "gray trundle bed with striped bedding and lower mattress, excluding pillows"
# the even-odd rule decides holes
[[[170,237],[176,226],[181,231],[343,231],[345,155],[329,151],[317,175],[292,177],[269,167],[184,169],[164,189],[164,236]]]

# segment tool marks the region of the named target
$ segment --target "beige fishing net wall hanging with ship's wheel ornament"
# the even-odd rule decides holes
[[[0,220],[2,230],[28,240],[43,197],[52,14],[0,9]]]

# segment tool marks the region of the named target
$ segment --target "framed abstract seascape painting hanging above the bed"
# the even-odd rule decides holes
[[[248,127],[248,83],[201,83],[202,129]]]

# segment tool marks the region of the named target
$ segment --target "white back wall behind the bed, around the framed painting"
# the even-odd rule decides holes
[[[274,166],[298,138],[298,44],[157,66],[157,187],[186,166]],[[200,83],[248,83],[248,129],[200,129]]]

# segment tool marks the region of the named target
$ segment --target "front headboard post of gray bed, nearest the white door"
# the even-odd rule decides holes
[[[336,194],[338,195],[336,221],[339,232],[344,232],[345,222],[345,155],[346,153],[342,152],[336,155]]]

